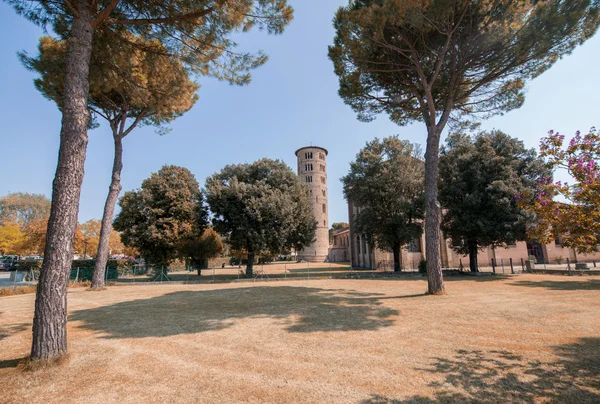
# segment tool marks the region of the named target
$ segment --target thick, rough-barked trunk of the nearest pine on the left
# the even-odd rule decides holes
[[[79,3],[79,15],[73,20],[67,45],[58,166],[35,298],[33,360],[56,358],[67,351],[67,287],[88,142],[88,74],[93,36],[91,10],[86,1]]]

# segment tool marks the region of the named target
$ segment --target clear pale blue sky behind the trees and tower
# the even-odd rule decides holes
[[[425,143],[422,124],[398,127],[387,117],[361,123],[337,95],[338,81],[327,58],[333,40],[332,18],[345,0],[291,0],[295,19],[280,36],[252,32],[240,37],[243,49],[262,49],[267,64],[246,87],[201,79],[200,99],[159,136],[137,129],[125,139],[123,189],[140,186],[164,164],[189,168],[200,184],[226,164],[262,157],[296,167],[294,151],[314,145],[329,150],[329,220],[347,221],[339,181],[365,142],[399,134]],[[16,52],[35,53],[41,30],[0,2],[0,196],[10,192],[51,194],[56,169],[60,114],[34,89],[33,73]],[[600,126],[600,37],[559,61],[528,86],[525,105],[484,123],[537,147],[549,129],[567,136]],[[79,219],[99,219],[112,166],[113,145],[107,125],[89,133]]]

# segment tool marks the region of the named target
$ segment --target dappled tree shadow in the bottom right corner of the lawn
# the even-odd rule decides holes
[[[363,404],[599,403],[600,338],[555,347],[555,362],[527,362],[508,351],[458,350],[423,372],[442,375],[434,397],[406,400],[373,395]]]

